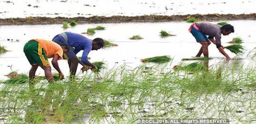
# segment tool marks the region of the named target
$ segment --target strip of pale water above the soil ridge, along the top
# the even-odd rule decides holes
[[[248,14],[256,12],[255,2],[253,0],[0,0],[0,18],[186,15],[197,13]]]

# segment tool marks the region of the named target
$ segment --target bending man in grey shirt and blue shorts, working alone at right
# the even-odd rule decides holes
[[[226,60],[230,60],[228,54],[224,51],[223,46],[221,45],[221,34],[229,35],[234,33],[234,27],[230,24],[220,26],[218,24],[212,24],[208,22],[193,23],[188,29],[189,32],[196,38],[196,41],[202,45],[201,49],[197,53],[196,57],[200,57],[203,53],[204,57],[208,57],[208,46],[210,41],[217,46],[217,49],[222,53]],[[208,35],[208,38],[207,36]],[[215,40],[214,40],[215,38]]]

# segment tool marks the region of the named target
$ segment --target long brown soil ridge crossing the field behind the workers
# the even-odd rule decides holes
[[[145,15],[145,16],[92,16],[92,17],[26,17],[26,18],[0,18],[0,25],[20,24],[62,24],[64,21],[75,20],[78,23],[122,23],[122,22],[171,22],[185,21],[194,17],[199,21],[220,21],[220,20],[256,20],[256,13],[251,14],[207,14],[207,15]]]

